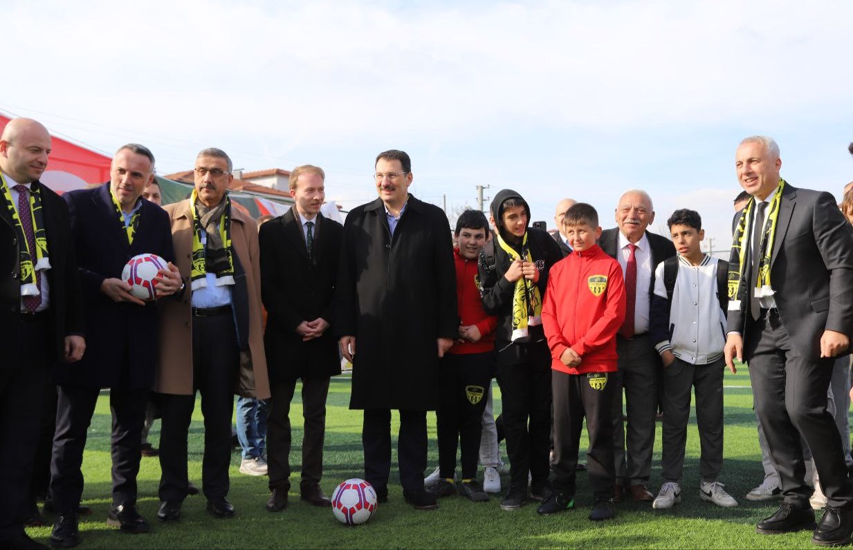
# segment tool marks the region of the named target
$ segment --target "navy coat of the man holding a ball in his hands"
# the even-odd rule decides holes
[[[62,198],[68,205],[86,306],[86,352],[78,363],[61,365],[56,382],[86,387],[151,387],[159,352],[157,304],[115,302],[102,293],[101,284],[105,278],[121,278],[125,263],[137,254],[152,253],[174,262],[169,216],[142,199],[139,226],[133,244],[128,244],[110,198],[109,183],[67,192]]]

